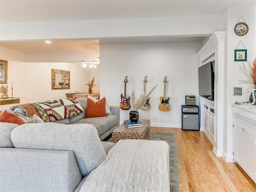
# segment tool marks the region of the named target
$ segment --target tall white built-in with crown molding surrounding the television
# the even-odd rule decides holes
[[[223,156],[223,132],[225,125],[224,118],[224,38],[225,31],[214,32],[204,46],[198,51],[200,59],[199,66],[210,61],[215,61],[214,66],[214,101],[207,100],[200,96],[200,131],[204,131],[210,142],[213,144],[212,151],[218,157]],[[207,103],[208,110],[204,109]],[[213,110],[214,112],[211,112]],[[233,157],[231,157],[233,160]],[[225,158],[228,162],[230,159]]]

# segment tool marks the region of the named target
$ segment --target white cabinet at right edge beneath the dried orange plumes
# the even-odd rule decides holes
[[[256,182],[256,106],[232,107],[234,160]]]

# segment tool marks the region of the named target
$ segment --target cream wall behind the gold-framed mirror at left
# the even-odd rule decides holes
[[[90,69],[68,62],[20,62],[22,52],[1,48],[0,58],[8,61],[8,95],[20,98],[20,104],[66,98],[66,93],[88,90]],[[52,69],[70,71],[70,89],[52,90]],[[6,84],[0,84],[6,86]],[[10,106],[0,106],[9,108]]]

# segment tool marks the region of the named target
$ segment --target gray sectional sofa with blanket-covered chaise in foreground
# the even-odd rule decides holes
[[[108,117],[82,113],[68,123],[0,122],[0,191],[169,192],[168,144],[101,141],[119,125],[119,107],[110,110]]]

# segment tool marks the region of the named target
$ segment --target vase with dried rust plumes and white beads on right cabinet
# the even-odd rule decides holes
[[[238,70],[242,74],[244,74],[244,76],[246,77],[245,79],[239,80],[240,84],[241,83],[252,83],[252,84],[254,84],[254,88],[252,88],[252,90],[250,90],[247,101],[242,102],[241,104],[242,105],[255,105],[256,104],[256,97],[255,97],[255,91],[256,91],[256,58],[252,62],[252,66],[251,66],[250,62],[248,62],[248,68],[246,68],[246,66],[244,66],[244,64],[243,64],[242,66],[240,66],[238,68]],[[235,104],[240,104],[240,103],[236,102]]]

